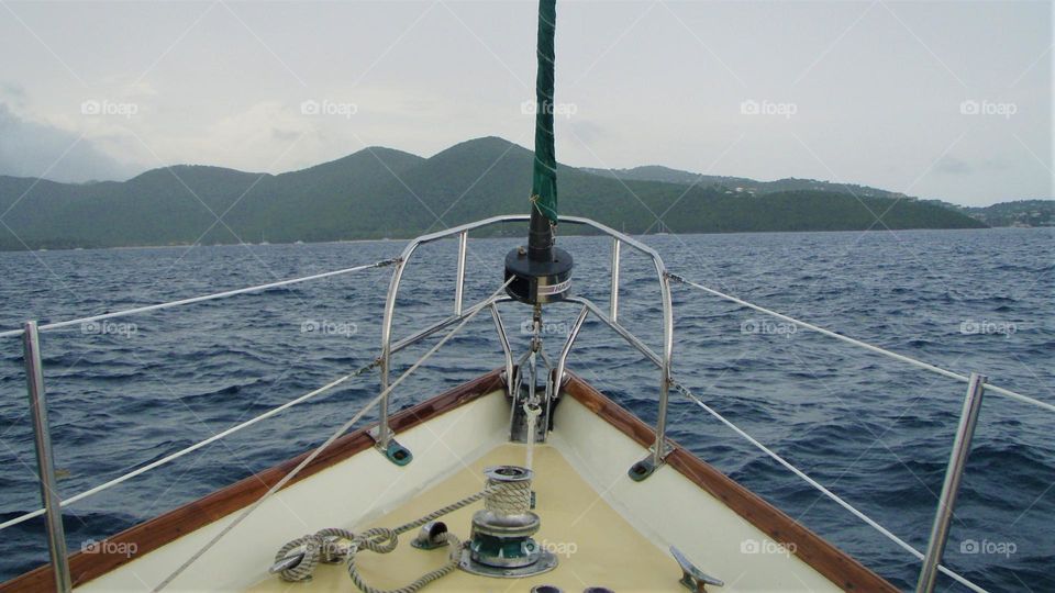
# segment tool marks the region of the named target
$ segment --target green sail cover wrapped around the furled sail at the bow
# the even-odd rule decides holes
[[[538,72],[535,78],[535,165],[531,200],[557,223],[557,156],[553,147],[553,37],[557,1],[538,0]]]

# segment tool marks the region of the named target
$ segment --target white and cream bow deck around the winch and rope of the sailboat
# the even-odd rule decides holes
[[[506,443],[508,422],[509,407],[496,392],[401,433],[400,443],[414,452],[414,461],[404,468],[366,450],[296,483],[265,503],[167,591],[355,591],[343,566],[321,566],[310,583],[300,584],[268,575],[267,567],[284,542],[322,527],[395,526],[478,491],[485,466],[523,463],[523,446]],[[725,581],[724,588],[710,590],[839,590],[795,556],[779,553],[760,530],[671,468],[664,467],[641,483],[631,481],[626,470],[644,455],[640,445],[603,418],[565,399],[549,443],[536,449],[534,468],[536,512],[543,519],[536,539],[563,552],[558,568],[522,581],[456,571],[425,591],[528,591],[534,584],[557,584],[566,592],[590,585],[621,592],[685,591],[678,584],[680,570],[666,551],[669,545]],[[443,521],[464,539],[477,507]],[[153,589],[221,523],[79,590]],[[371,585],[401,586],[443,562],[445,550],[417,550],[409,539],[401,538],[390,555],[360,552],[359,566]],[[763,553],[743,551],[754,548]]]

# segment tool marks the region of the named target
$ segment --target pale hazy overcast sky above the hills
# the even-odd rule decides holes
[[[1050,2],[557,10],[563,163],[967,204],[1053,195]],[[534,2],[0,0],[0,174],[280,172],[485,135],[530,147],[534,35]]]

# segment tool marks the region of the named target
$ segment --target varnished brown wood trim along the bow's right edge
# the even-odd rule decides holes
[[[586,381],[571,374],[564,392],[607,421],[642,447],[655,443],[653,429],[606,398]],[[898,591],[885,579],[857,560],[832,546],[801,523],[789,517],[754,492],[740,485],[721,471],[675,444],[666,462],[692,483],[721,500],[737,515],[778,541],[795,550],[807,564],[846,591]],[[630,469],[630,468],[628,468]]]

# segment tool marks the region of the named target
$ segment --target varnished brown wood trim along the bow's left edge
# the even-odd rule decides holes
[[[392,415],[389,424],[396,433],[401,433],[491,393],[502,384],[500,371],[491,371],[479,379]],[[374,440],[367,435],[366,430],[366,428],[360,428],[333,441],[284,488],[373,447]],[[297,467],[308,455],[309,452],[304,452],[107,539],[108,542],[113,544],[107,546],[107,549],[134,549],[135,552],[131,556],[123,552],[76,552],[71,555],[69,557],[69,572],[74,585],[87,583],[196,529],[248,506]],[[53,591],[54,586],[55,578],[52,575],[52,567],[45,564],[0,584],[0,592]]]

